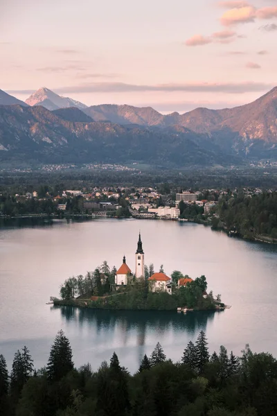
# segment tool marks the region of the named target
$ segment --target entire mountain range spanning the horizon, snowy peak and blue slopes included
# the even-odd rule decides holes
[[[0,90],[0,161],[230,165],[277,160],[276,145],[277,87],[240,107],[167,115],[87,107],[47,88],[23,103]]]

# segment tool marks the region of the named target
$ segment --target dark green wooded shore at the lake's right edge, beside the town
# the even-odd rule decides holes
[[[217,206],[218,218],[213,226],[225,225],[237,231],[242,237],[253,239],[256,236],[269,236],[277,239],[277,193],[260,195],[225,196]]]

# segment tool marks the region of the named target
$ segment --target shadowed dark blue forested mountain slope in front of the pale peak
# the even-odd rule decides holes
[[[142,162],[165,167],[242,162],[233,153],[222,151],[208,136],[186,128],[174,132],[108,122],[73,122],[65,120],[64,113],[42,106],[0,106],[0,161]]]

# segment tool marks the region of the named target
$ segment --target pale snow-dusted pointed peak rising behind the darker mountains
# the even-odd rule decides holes
[[[80,110],[87,108],[87,105],[75,101],[72,98],[62,97],[46,87],[38,89],[27,100],[26,104],[33,107],[33,105],[42,105],[47,110],[57,110],[58,108],[77,107]]]

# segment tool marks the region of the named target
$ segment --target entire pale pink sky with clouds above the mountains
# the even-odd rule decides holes
[[[277,85],[277,0],[1,0],[0,88],[184,112]]]

